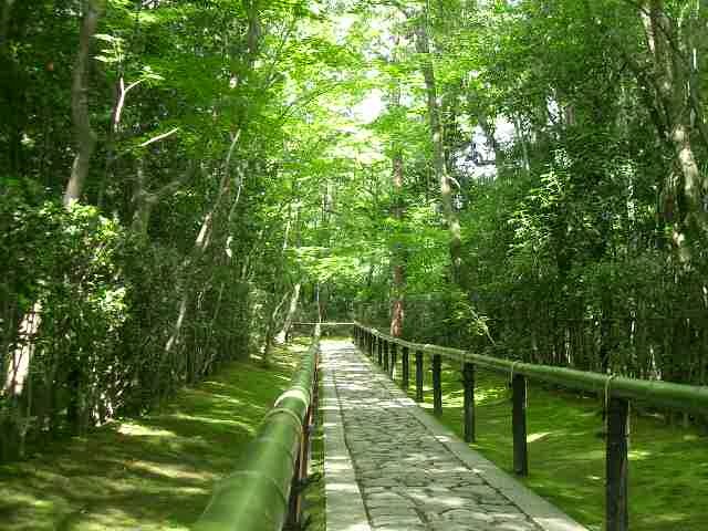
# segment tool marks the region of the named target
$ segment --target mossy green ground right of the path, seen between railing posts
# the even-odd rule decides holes
[[[398,369],[398,367],[397,367]],[[444,365],[442,424],[462,437],[459,371]],[[398,372],[398,374],[400,374]],[[426,371],[429,377],[429,371]],[[477,441],[471,445],[512,472],[511,393],[508,381],[477,372]],[[415,379],[412,378],[412,382]],[[415,397],[415,387],[408,389]],[[433,409],[425,385],[423,407]],[[522,482],[589,529],[604,521],[605,440],[602,405],[570,392],[529,384],[529,477]],[[629,527],[633,531],[701,531],[708,499],[708,436],[667,426],[663,418],[632,415]]]

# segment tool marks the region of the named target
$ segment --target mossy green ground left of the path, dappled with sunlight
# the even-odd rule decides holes
[[[308,342],[277,348],[269,369],[253,358],[228,364],[156,413],[108,423],[0,466],[0,528],[189,529],[215,480],[231,470],[288,386]]]

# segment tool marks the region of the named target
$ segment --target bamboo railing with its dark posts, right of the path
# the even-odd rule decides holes
[[[433,357],[434,413],[442,414],[441,363],[442,360],[459,363],[462,373],[465,440],[475,440],[475,369],[503,373],[510,376],[512,387],[513,469],[520,476],[529,472],[527,451],[527,378],[549,382],[570,389],[595,393],[605,400],[607,416],[607,445],[605,454],[605,529],[627,531],[627,470],[628,470],[628,417],[629,400],[642,400],[656,407],[708,415],[708,387],[673,384],[658,381],[627,378],[553,367],[532,363],[513,362],[473,354],[459,348],[412,343],[392,337],[375,329],[354,323],[354,340],[365,353],[378,361],[384,371],[394,377],[397,351],[402,350],[402,386],[409,385],[409,355],[415,353],[416,400],[423,402],[424,355]]]

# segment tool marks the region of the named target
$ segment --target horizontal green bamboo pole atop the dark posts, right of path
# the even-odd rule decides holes
[[[532,363],[513,362],[499,357],[472,354],[459,348],[449,348],[430,344],[412,343],[392,337],[375,329],[355,326],[388,343],[426,354],[439,354],[442,358],[458,363],[473,363],[477,366],[506,374],[522,374],[533,379],[549,382],[572,389],[586,391],[617,398],[636,399],[654,406],[678,409],[681,412],[708,413],[708,386],[673,384],[650,379],[610,376],[601,373],[576,371],[574,368],[553,367]]]

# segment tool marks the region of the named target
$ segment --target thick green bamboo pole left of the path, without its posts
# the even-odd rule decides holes
[[[281,531],[312,403],[320,326],[290,387],[263,418],[236,470],[219,481],[194,531]]]

